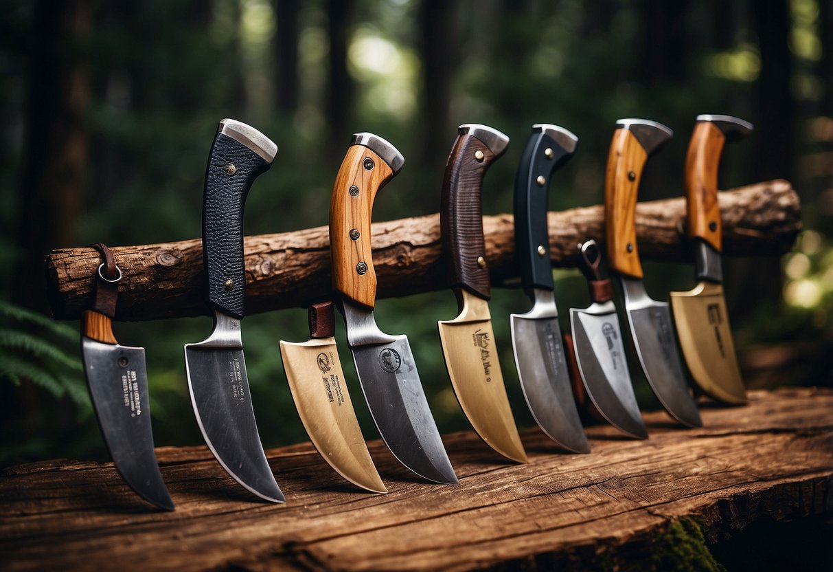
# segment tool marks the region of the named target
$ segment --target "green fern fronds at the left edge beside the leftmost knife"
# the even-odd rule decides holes
[[[0,300],[0,382],[29,381],[68,397],[82,417],[92,412],[77,357],[78,333],[41,314]]]

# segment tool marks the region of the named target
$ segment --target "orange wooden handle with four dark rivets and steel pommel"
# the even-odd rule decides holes
[[[332,287],[372,309],[376,272],[370,240],[373,200],[402,169],[405,159],[391,143],[372,133],[356,133],[336,175],[330,199]]]

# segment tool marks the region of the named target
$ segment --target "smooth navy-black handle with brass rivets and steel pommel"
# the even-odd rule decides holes
[[[553,288],[547,190],[552,173],[570,160],[577,143],[573,133],[548,123],[533,125],[526,141],[515,177],[515,248],[524,289]]]

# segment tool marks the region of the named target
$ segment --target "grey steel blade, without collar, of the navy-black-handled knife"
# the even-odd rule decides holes
[[[572,395],[558,319],[511,314],[511,331],[518,377],[532,417],[561,447],[590,453]]]

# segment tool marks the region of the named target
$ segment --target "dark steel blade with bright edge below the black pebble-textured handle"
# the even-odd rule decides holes
[[[214,333],[185,346],[191,403],[208,448],[228,474],[258,497],[285,501],[257,434],[246,362],[239,346],[223,347],[223,321],[217,312]],[[239,320],[237,334],[239,334]]]

